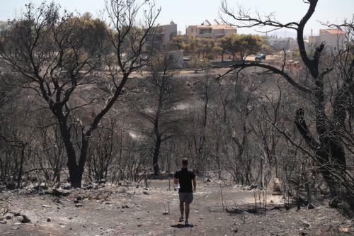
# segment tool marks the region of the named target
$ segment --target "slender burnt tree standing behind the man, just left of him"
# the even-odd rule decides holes
[[[177,80],[173,78],[173,57],[156,55],[149,64],[146,77],[147,95],[131,101],[132,109],[149,123],[146,135],[152,140],[152,167],[154,174],[160,173],[159,157],[164,142],[178,133],[178,103],[182,100]]]

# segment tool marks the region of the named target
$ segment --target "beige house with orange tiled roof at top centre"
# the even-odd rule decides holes
[[[185,30],[185,34],[188,37],[193,38],[199,37],[217,39],[222,38],[225,35],[237,33],[237,29],[232,26],[219,24],[216,20],[215,23],[215,25],[212,25],[209,21],[205,20],[205,22],[199,26],[188,26]]]

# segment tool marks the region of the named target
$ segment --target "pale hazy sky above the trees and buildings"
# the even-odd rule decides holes
[[[55,0],[62,7],[69,11],[79,11],[84,13],[90,11],[97,16],[98,11],[103,9],[104,0]],[[33,0],[34,4],[39,4],[42,0]],[[250,9],[258,10],[261,13],[275,12],[280,21],[299,21],[307,10],[307,4],[302,0],[229,0],[229,5],[236,7],[238,4]],[[0,21],[14,18],[21,14],[21,9],[28,0],[0,0]],[[167,24],[174,21],[178,24],[178,30],[185,33],[185,26],[200,24],[205,19],[211,23],[219,16],[220,0],[156,0],[161,6],[159,23]],[[343,23],[345,18],[352,18],[354,13],[354,0],[319,0],[316,12],[308,23],[306,34],[314,30],[314,35],[318,34],[321,25],[318,21],[329,21],[331,23]],[[250,29],[239,29],[239,33],[255,33]],[[287,30],[282,34],[293,35]]]

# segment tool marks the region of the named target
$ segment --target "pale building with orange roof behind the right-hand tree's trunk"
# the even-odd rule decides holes
[[[346,31],[343,31],[340,27],[320,29],[318,36],[313,36],[311,33],[311,36],[309,37],[310,47],[316,47],[321,43],[326,43],[327,47],[332,48],[335,48],[337,46],[343,47],[346,42]]]

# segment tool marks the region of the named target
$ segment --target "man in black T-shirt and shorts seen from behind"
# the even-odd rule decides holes
[[[193,189],[192,189],[193,181]],[[182,169],[178,170],[174,176],[174,184],[179,182],[179,208],[181,210],[181,217],[179,222],[185,220],[185,226],[189,226],[188,217],[190,208],[189,205],[193,201],[193,192],[197,188],[197,182],[195,181],[195,174],[192,170],[188,169],[188,159],[182,159]],[[183,217],[183,212],[185,211],[185,218]]]

